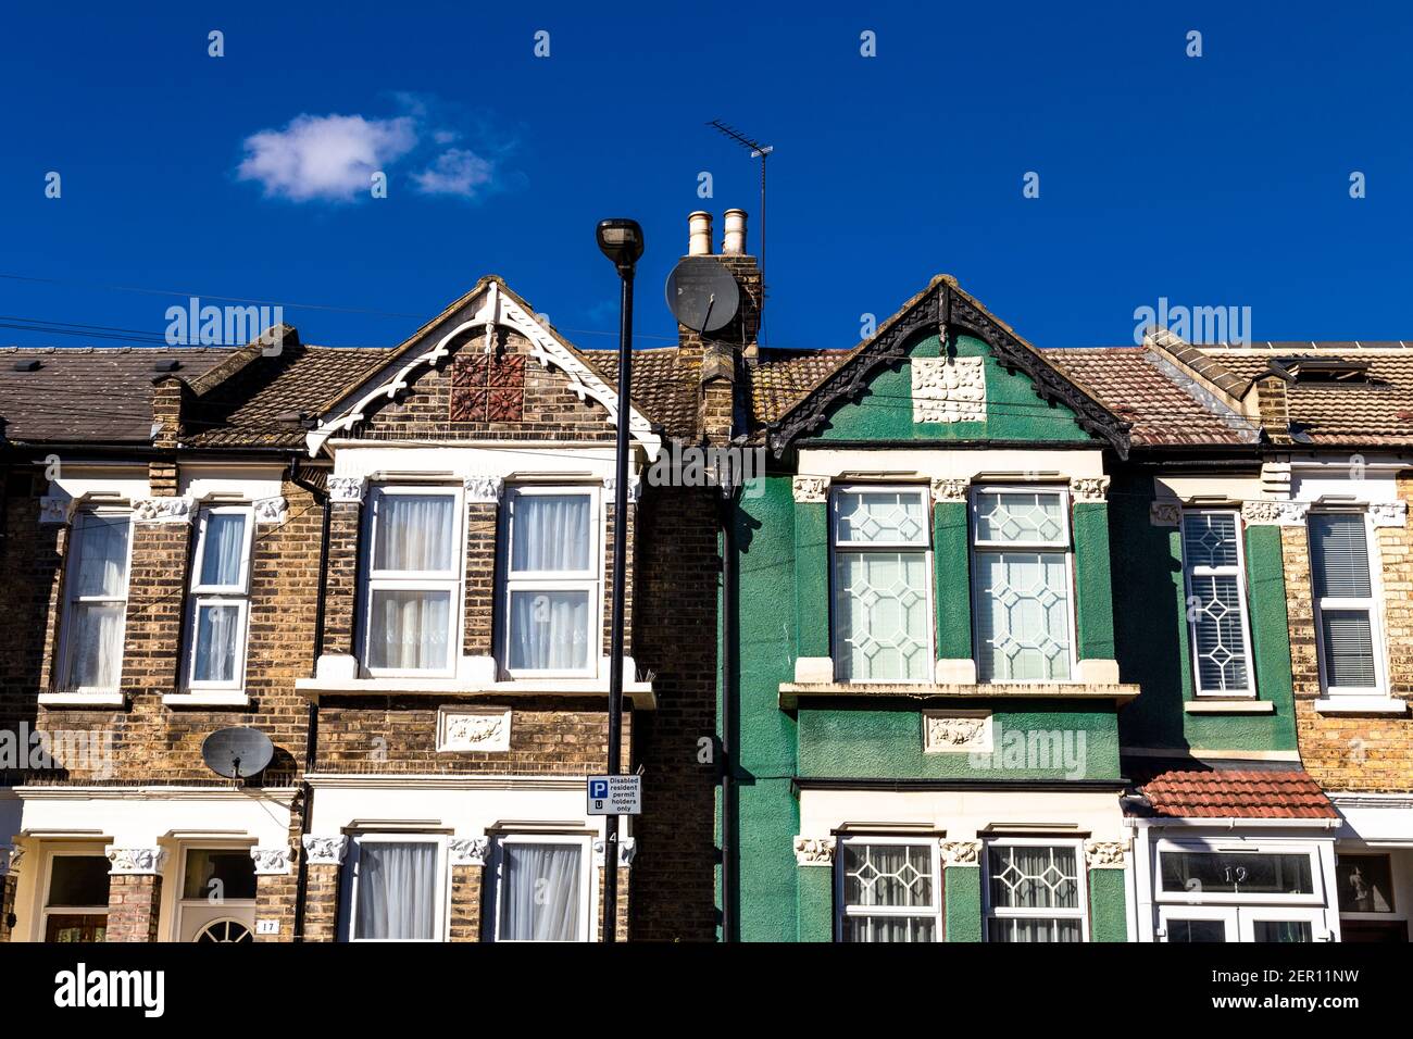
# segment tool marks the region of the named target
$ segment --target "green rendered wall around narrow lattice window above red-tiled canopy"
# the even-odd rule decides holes
[[[1174,751],[1294,751],[1294,695],[1280,529],[1246,532],[1246,589],[1256,694],[1275,714],[1187,714],[1194,697],[1193,650],[1183,582],[1183,537],[1153,526],[1150,476],[1116,478],[1109,488],[1119,677],[1142,694],[1119,712],[1125,746]]]

